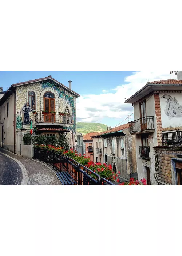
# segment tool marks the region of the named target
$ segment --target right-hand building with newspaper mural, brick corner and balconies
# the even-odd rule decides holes
[[[136,136],[138,178],[182,185],[182,80],[148,82],[125,103],[134,106],[129,131]]]

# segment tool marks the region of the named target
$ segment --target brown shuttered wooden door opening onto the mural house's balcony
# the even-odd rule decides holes
[[[44,98],[44,110],[49,112],[44,114],[44,122],[55,123],[55,115],[51,114],[51,111],[55,111],[55,99]]]

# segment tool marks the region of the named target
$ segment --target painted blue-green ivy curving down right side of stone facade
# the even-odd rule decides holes
[[[74,103],[75,103],[74,97],[70,96],[65,91],[61,90],[60,86],[58,86],[53,81],[42,81],[42,82],[40,82],[40,84],[43,89],[52,88],[58,92],[60,98],[63,98],[63,97],[65,98],[66,102],[71,106],[74,123],[73,123],[73,126],[69,126],[69,127],[64,126],[63,128],[76,132],[76,110],[75,110],[75,105],[74,105]]]

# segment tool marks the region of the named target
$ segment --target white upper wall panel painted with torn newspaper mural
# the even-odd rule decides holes
[[[160,94],[162,127],[182,126],[182,94]]]

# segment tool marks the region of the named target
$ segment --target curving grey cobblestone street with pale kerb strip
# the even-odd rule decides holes
[[[1,148],[0,185],[61,184],[55,174],[43,163],[19,155],[14,155]]]

